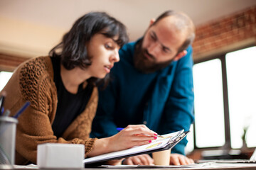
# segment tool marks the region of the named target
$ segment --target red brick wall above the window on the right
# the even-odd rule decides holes
[[[218,11],[216,11],[218,12]],[[256,42],[256,6],[196,27],[193,59],[201,60],[215,53]]]

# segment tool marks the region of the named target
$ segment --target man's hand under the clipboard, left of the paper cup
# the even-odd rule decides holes
[[[123,164],[127,165],[152,165],[154,160],[149,156],[149,154],[141,154],[134,157],[129,157],[124,159]]]

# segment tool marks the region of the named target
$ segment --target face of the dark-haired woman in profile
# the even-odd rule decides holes
[[[87,43],[87,55],[91,57],[92,64],[86,70],[91,77],[104,78],[110,73],[114,62],[119,62],[119,46],[114,38],[97,33]]]

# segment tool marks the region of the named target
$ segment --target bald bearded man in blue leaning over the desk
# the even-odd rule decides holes
[[[184,13],[166,11],[150,22],[144,37],[119,50],[112,81],[99,91],[92,136],[107,137],[116,128],[144,124],[158,134],[189,130],[193,122],[193,22]],[[191,164],[183,156],[186,139],[172,150],[170,164]],[[152,164],[149,155],[124,164]]]

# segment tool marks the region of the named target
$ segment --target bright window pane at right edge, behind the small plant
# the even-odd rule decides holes
[[[231,147],[242,147],[243,128],[248,147],[256,147],[256,47],[226,55]]]

